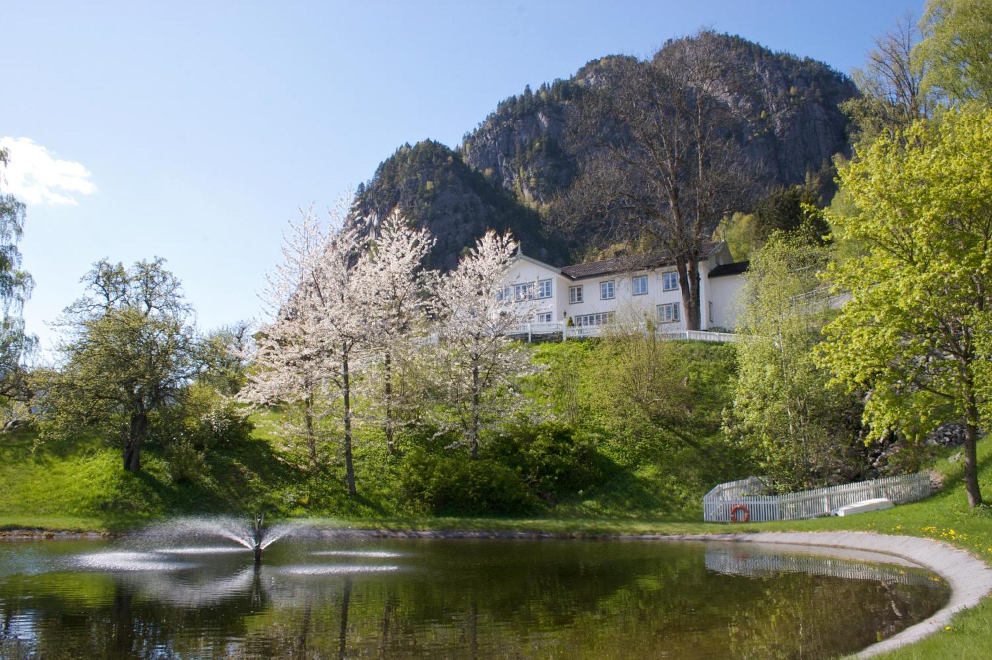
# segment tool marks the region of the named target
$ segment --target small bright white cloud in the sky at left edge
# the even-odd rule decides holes
[[[52,152],[29,138],[0,138],[0,148],[10,153],[6,168],[0,168],[4,191],[28,204],[71,204],[75,195],[96,192],[89,170],[74,161],[60,161]]]

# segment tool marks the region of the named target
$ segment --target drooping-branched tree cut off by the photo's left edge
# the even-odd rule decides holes
[[[0,165],[9,161],[0,149]],[[3,176],[0,174],[0,185]],[[37,339],[24,331],[21,312],[31,296],[35,280],[21,269],[18,244],[24,232],[25,205],[12,194],[0,192],[0,398],[26,394],[24,360],[37,346]]]

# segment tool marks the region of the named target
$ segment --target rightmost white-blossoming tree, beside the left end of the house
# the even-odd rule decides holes
[[[529,365],[526,352],[510,338],[529,316],[529,305],[502,295],[516,250],[509,234],[489,231],[437,286],[440,387],[456,410],[472,458],[478,457],[483,412],[497,390]]]

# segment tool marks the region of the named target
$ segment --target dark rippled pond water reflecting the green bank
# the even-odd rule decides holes
[[[287,538],[256,571],[233,543],[17,542],[0,657],[828,658],[947,597],[921,569],[767,546]]]

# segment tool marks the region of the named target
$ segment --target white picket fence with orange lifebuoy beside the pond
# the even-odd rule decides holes
[[[764,495],[765,485],[758,477],[720,484],[702,498],[702,518],[707,522],[730,522],[730,509],[747,508],[751,521],[798,520],[830,515],[833,511],[865,499],[886,497],[895,504],[923,499],[930,495],[930,476],[926,473],[883,477],[870,482],[831,486],[815,491]],[[743,518],[743,511],[737,519]]]

